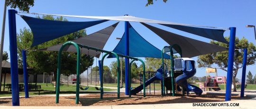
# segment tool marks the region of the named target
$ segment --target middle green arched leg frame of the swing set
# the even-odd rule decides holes
[[[117,79],[118,79],[118,99],[120,99],[120,83],[119,83],[119,80],[120,80],[120,77],[119,77],[119,73],[120,73],[120,66],[119,66],[119,56],[118,56],[118,54],[116,54],[115,52],[108,52],[108,53],[106,53],[106,54],[104,54],[103,56],[102,56],[102,58],[101,58],[101,88],[100,88],[100,90],[101,90],[101,99],[103,99],[103,64],[104,64],[104,59],[105,59],[105,57],[108,55],[108,54],[113,54],[113,55],[115,55],[116,56],[116,58],[117,58],[117,70],[118,70],[118,73],[117,73]]]

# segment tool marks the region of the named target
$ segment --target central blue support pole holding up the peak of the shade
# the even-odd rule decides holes
[[[125,21],[125,55],[129,56],[129,22]],[[125,95],[129,95],[129,58],[125,58]]]

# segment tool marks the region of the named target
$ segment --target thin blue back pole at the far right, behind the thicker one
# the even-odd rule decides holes
[[[245,94],[246,63],[247,63],[247,48],[244,48],[243,72],[242,72],[242,83],[241,83],[240,97],[244,97],[244,94]]]

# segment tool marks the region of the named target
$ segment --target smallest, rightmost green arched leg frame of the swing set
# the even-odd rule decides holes
[[[129,64],[129,97],[131,97],[131,64],[134,61],[140,61],[143,65],[143,97],[146,97],[146,88],[145,88],[145,63],[144,61],[142,61],[141,59],[137,58],[137,59],[133,59],[130,64]]]

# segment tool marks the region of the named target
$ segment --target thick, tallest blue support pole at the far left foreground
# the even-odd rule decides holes
[[[12,106],[19,106],[16,13],[14,9],[8,10]]]

